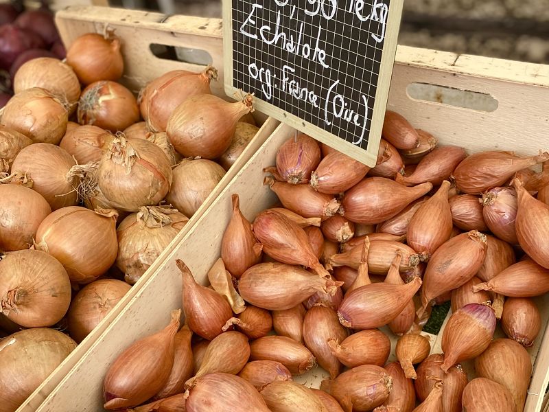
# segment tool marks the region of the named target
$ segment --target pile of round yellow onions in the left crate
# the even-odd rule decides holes
[[[136,98],[116,82],[121,48],[84,34],[66,60],[25,62],[1,113],[0,412],[106,317],[258,129],[250,96],[211,95],[213,67],[165,73]]]

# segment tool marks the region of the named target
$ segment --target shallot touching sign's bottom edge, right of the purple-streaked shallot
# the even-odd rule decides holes
[[[338,194],[356,185],[370,168],[340,152],[332,152],[320,161],[311,174],[311,186],[325,194]]]

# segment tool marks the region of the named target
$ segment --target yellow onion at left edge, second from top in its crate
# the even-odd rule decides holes
[[[58,144],[69,120],[66,103],[62,98],[39,87],[17,93],[5,105],[2,124],[35,143]]]

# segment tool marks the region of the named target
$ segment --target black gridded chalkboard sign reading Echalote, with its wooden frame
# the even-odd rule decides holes
[[[375,165],[403,0],[224,0],[225,91]]]

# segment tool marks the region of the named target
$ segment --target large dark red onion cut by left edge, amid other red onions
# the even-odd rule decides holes
[[[44,41],[31,30],[14,24],[0,26],[0,69],[8,70],[17,56],[28,49],[41,49]]]

